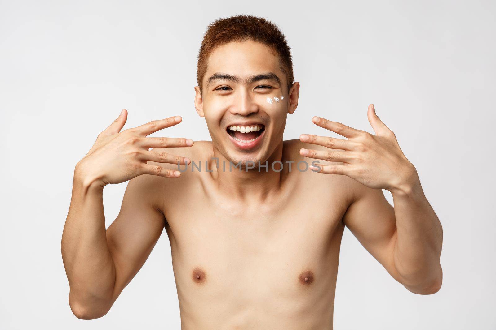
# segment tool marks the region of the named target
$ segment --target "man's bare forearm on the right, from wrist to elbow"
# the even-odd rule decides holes
[[[415,293],[434,293],[442,281],[439,219],[424,195],[416,171],[410,184],[391,193],[396,218],[393,260],[400,282]]]

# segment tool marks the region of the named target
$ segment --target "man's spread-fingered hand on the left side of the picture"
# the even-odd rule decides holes
[[[161,129],[179,124],[180,116],[154,120],[147,124],[129,128],[121,132],[127,120],[127,110],[98,135],[90,151],[76,165],[76,173],[83,180],[102,187],[118,184],[142,174],[177,178],[180,171],[148,164],[148,161],[187,165],[190,160],[166,152],[148,150],[149,148],[187,147],[193,145],[190,139],[147,138]]]

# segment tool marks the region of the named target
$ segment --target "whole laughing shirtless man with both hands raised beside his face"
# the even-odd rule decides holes
[[[344,138],[283,141],[299,87],[276,26],[221,19],[203,39],[195,87],[212,141],[147,137],[180,116],[122,130],[125,109],[99,134],[75,167],[62,236],[76,317],[109,311],[164,228],[183,329],[332,329],[345,226],[408,290],[439,290],[441,225],[394,134],[371,104],[375,135],[313,117]],[[103,189],[128,180],[105,230]]]

